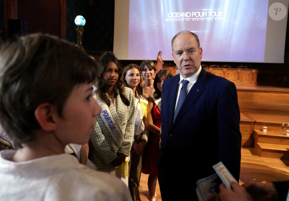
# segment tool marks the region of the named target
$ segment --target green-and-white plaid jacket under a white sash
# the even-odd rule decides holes
[[[110,104],[111,113],[124,134],[123,145],[119,148],[106,128],[102,118],[97,116],[97,123],[90,136],[89,159],[100,171],[115,169],[110,163],[117,158],[117,153],[130,155],[134,139],[135,128],[135,100],[132,89],[125,87],[125,95],[130,100],[130,106],[126,106],[120,95],[117,95],[117,107]]]

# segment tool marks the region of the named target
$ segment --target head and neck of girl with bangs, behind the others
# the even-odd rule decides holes
[[[151,60],[144,60],[141,63],[141,72],[143,75],[143,94],[146,98],[150,97],[153,92],[153,79],[155,75],[155,65]]]

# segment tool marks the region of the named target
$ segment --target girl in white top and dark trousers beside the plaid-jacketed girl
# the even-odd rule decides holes
[[[145,117],[148,110],[148,102],[142,96],[143,87],[141,83],[141,70],[136,64],[129,64],[124,69],[122,80],[125,86],[130,87],[135,94],[135,136],[131,149],[131,160],[129,162],[129,189],[134,201],[140,201],[140,179],[144,146],[147,143],[148,132],[145,129]]]

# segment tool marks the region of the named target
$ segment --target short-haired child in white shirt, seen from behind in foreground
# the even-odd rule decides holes
[[[0,124],[17,150],[0,152],[1,200],[131,200],[116,177],[64,154],[83,145],[101,109],[92,97],[97,64],[47,34],[0,48]]]

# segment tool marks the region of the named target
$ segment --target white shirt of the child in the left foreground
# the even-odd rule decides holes
[[[15,150],[0,152],[0,199],[3,201],[131,201],[117,177],[81,165],[75,156],[53,155],[11,162]]]

